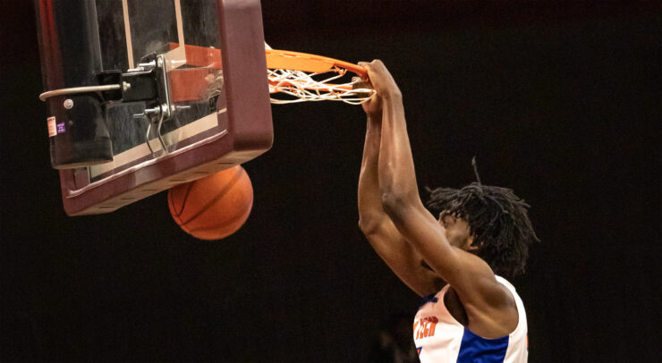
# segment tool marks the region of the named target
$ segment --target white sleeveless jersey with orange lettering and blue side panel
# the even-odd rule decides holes
[[[434,298],[427,299],[414,317],[413,333],[421,363],[525,363],[529,357],[526,312],[522,299],[512,284],[497,276],[517,304],[519,322],[513,333],[501,338],[486,339],[471,333],[458,323],[446,309],[446,285]]]

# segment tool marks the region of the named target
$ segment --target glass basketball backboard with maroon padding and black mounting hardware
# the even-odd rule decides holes
[[[36,0],[68,215],[107,213],[271,147],[259,0]]]

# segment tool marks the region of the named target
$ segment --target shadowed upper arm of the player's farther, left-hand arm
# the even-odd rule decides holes
[[[420,296],[435,293],[445,284],[434,271],[421,264],[420,253],[412,248],[387,217],[377,228],[366,233],[366,238],[386,265]]]

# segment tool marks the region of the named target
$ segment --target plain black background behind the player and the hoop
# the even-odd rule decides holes
[[[530,361],[662,361],[656,3],[263,1],[271,46],[382,59],[420,186],[508,186],[541,243],[513,283]],[[2,361],[361,361],[419,299],[357,228],[359,106],[273,106],[248,222],[174,224],[166,194],[64,215],[35,19],[3,2]]]

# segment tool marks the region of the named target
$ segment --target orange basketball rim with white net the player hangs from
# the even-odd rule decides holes
[[[354,89],[361,79],[368,79],[365,68],[321,55],[265,49],[269,93],[276,105],[306,101],[341,101],[360,105],[374,97],[374,89]],[[349,74],[360,78],[349,79]]]

